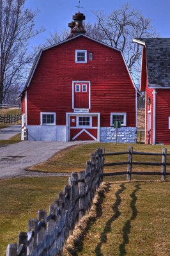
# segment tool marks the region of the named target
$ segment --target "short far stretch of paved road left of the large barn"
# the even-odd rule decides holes
[[[21,130],[21,125],[10,125],[9,127],[0,129],[0,140],[8,140]]]

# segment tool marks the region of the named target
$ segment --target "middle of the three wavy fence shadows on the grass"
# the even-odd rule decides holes
[[[102,256],[103,253],[101,252],[102,244],[107,242],[107,233],[111,232],[111,224],[114,220],[117,220],[121,216],[121,212],[119,211],[119,206],[121,204],[121,193],[125,191],[126,187],[124,184],[120,185],[120,189],[115,193],[116,201],[114,205],[112,205],[112,210],[114,211],[114,215],[105,223],[104,232],[100,235],[100,243],[97,244],[95,248],[95,253],[97,256]]]

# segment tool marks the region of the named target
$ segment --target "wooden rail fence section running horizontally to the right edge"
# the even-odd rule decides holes
[[[104,173],[104,176],[114,176],[114,175],[127,175],[127,180],[130,181],[132,178],[132,174],[135,175],[161,175],[162,180],[166,180],[166,175],[170,173],[166,172],[166,167],[170,166],[170,163],[167,163],[167,149],[163,148],[162,153],[150,153],[150,152],[137,152],[133,151],[133,148],[128,148],[128,151],[124,152],[113,152],[113,153],[106,153],[106,156],[118,156],[118,155],[127,155],[127,161],[124,162],[114,162],[114,163],[105,163],[104,166],[120,166],[120,165],[127,165],[126,172],[109,172]],[[162,162],[137,162],[133,161],[133,155],[144,155],[144,156],[162,156]],[[160,172],[133,172],[132,167],[135,165],[145,165],[145,166],[161,166]]]

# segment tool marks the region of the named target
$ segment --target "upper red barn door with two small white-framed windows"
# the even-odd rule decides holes
[[[89,83],[74,83],[74,108],[89,108]]]

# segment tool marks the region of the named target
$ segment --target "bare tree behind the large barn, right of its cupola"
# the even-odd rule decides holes
[[[134,44],[132,38],[158,36],[151,26],[151,20],[144,18],[139,11],[131,9],[128,4],[124,4],[109,15],[105,15],[104,12],[94,14],[97,17],[95,27],[102,42],[123,52],[132,76],[135,81],[139,81],[141,47]]]

